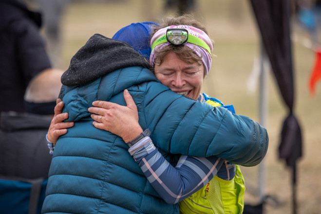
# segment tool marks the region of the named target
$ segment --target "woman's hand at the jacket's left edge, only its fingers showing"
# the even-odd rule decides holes
[[[56,144],[60,135],[67,133],[67,128],[74,126],[74,122],[63,122],[69,115],[68,113],[61,113],[63,108],[63,102],[61,99],[57,99],[55,107],[55,115],[51,121],[47,138],[51,143]]]

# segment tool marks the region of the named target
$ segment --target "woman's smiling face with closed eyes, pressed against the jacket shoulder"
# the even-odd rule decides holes
[[[201,93],[204,66],[197,62],[188,64],[170,52],[160,65],[155,65],[155,76],[172,91],[197,100]]]

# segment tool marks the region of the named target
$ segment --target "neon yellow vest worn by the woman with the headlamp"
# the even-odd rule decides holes
[[[206,103],[213,107],[222,106],[212,100]],[[179,202],[180,214],[242,214],[244,193],[244,178],[240,166],[236,165],[233,179],[214,176],[205,187]]]

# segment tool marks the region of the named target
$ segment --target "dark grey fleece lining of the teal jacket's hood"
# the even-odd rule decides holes
[[[129,44],[95,34],[73,56],[61,83],[66,86],[85,85],[112,71],[131,66],[151,68]]]

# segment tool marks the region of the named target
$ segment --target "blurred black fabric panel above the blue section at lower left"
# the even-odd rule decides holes
[[[52,156],[46,141],[51,117],[1,112],[0,175],[47,178]]]

